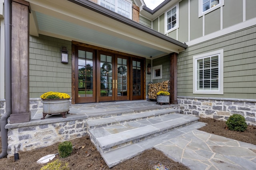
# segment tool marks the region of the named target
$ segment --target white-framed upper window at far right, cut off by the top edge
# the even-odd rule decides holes
[[[224,0],[198,0],[199,17],[224,6]]]

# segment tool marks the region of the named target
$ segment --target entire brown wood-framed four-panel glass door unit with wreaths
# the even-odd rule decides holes
[[[145,59],[99,47],[72,45],[72,104],[141,100]]]

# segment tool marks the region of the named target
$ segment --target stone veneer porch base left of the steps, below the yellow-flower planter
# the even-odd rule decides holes
[[[53,143],[72,140],[85,135],[87,135],[87,127],[84,119],[9,128],[8,157],[14,156],[14,153],[20,150],[47,147]]]

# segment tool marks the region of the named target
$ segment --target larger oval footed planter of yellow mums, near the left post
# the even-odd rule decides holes
[[[40,96],[43,100],[43,117],[47,114],[61,114],[63,118],[66,118],[65,114],[69,111],[69,99],[70,96],[66,93],[60,92],[46,92]]]

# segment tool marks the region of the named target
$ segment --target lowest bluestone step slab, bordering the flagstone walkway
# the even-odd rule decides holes
[[[111,168],[125,160],[141,154],[142,152],[144,152],[144,150],[152,149],[154,148],[154,146],[169,141],[180,135],[184,135],[185,133],[193,131],[194,129],[199,129],[204,125],[205,123],[196,122],[185,127],[181,127],[179,129],[168,131],[158,136],[139,141],[138,143],[132,143],[131,145],[127,145],[125,147],[103,152],[101,153],[101,155],[102,158],[105,160],[106,164]]]

